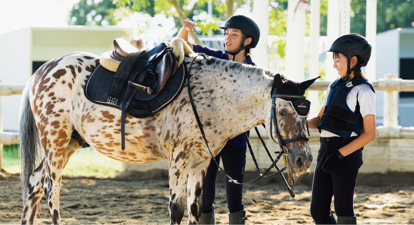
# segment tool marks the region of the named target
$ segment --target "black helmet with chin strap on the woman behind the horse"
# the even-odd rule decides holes
[[[244,15],[233,15],[227,19],[224,26],[220,27],[220,29],[224,29],[224,31],[227,28],[239,29],[244,34],[243,40],[241,41],[240,48],[236,52],[225,51],[226,53],[233,56],[233,61],[235,58],[234,56],[237,55],[243,49],[251,49],[257,46],[257,43],[259,42],[259,38],[260,38],[260,29],[257,23],[253,19],[247,16],[244,16]],[[248,46],[243,46],[244,41],[246,40],[246,38],[248,38],[247,35],[252,37],[253,40]],[[225,45],[224,45],[224,48],[225,48]]]

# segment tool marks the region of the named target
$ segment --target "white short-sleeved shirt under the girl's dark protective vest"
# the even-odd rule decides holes
[[[328,89],[325,94],[325,99],[322,102],[322,107],[326,106],[326,100],[328,98],[328,94],[330,91],[330,85],[332,85],[333,82],[334,81],[329,83]],[[352,112],[355,112],[357,94],[360,107],[359,111],[361,112],[362,118],[364,118],[366,115],[375,116],[375,93],[367,84],[360,84],[358,86],[353,87],[351,91],[349,91],[348,96],[346,97],[346,104],[348,105],[349,109],[352,110]],[[358,135],[355,132],[352,132],[351,137],[353,136]],[[320,132],[320,137],[328,138],[339,136],[322,129]]]

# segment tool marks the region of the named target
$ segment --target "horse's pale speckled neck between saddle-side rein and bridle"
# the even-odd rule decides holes
[[[244,66],[230,68],[228,64],[201,67],[200,77],[195,81],[197,87],[193,90],[201,111],[210,114],[208,117],[213,126],[221,126],[218,129],[223,136],[228,136],[225,138],[235,137],[263,123],[268,103],[270,106],[268,86],[271,80],[260,70]]]

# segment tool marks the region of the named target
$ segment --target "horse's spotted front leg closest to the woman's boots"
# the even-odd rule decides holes
[[[203,201],[203,183],[210,160],[190,170],[187,182],[188,224],[199,224]]]

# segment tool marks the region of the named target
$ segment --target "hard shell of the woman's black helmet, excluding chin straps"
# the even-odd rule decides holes
[[[247,34],[253,38],[252,43],[249,46],[255,48],[260,38],[260,29],[257,23],[244,15],[233,15],[228,18],[224,26],[221,29],[234,28],[241,30],[244,34]]]

